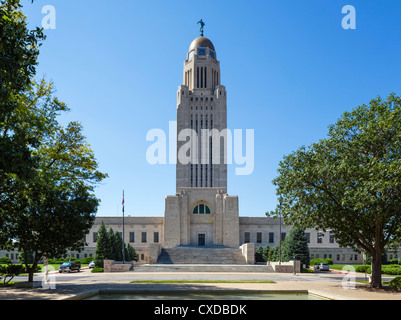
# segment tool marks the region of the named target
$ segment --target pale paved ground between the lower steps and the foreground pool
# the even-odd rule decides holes
[[[0,299],[60,300],[100,289],[135,290],[308,290],[311,293],[339,300],[401,300],[401,293],[372,290],[355,284],[356,289],[342,287],[344,275],[335,273],[277,274],[277,273],[79,273],[54,274],[56,289],[0,288]],[[363,275],[357,276],[363,279]],[[21,279],[18,279],[21,280]],[[22,279],[23,281],[26,278]],[[35,277],[41,280],[41,277]],[[273,280],[276,283],[209,283],[209,284],[130,284],[134,280]]]

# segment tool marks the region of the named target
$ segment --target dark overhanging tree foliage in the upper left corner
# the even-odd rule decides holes
[[[7,191],[9,174],[29,177],[35,164],[29,149],[37,141],[13,115],[20,95],[32,84],[45,36],[42,29],[28,30],[19,2],[0,1],[0,194]]]

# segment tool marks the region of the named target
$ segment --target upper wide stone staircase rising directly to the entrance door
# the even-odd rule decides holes
[[[247,265],[240,249],[184,246],[162,249],[157,264]]]

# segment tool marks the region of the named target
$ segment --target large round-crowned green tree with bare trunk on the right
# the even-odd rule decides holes
[[[401,98],[378,97],[345,112],[326,139],[285,156],[273,180],[285,222],[330,230],[340,246],[370,254],[375,288],[384,247],[401,235],[400,132]]]

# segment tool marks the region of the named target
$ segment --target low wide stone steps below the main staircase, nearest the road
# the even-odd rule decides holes
[[[134,272],[274,272],[267,265],[147,264],[135,265]]]

